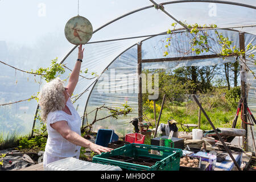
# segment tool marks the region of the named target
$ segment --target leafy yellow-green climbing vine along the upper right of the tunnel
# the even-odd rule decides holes
[[[247,69],[249,69],[249,71],[253,74],[253,76],[255,78],[254,72],[248,67],[245,60],[242,59],[242,57],[246,56],[247,58],[249,58],[249,59],[246,59],[247,61],[250,61],[256,65],[255,55],[254,54],[250,54],[250,55],[246,54],[247,51],[252,51],[252,50],[256,49],[255,45],[250,43],[245,48],[245,50],[242,50],[242,49],[240,50],[240,48],[238,48],[236,46],[232,47],[233,41],[229,40],[229,38],[225,37],[220,32],[218,32],[216,29],[217,28],[216,24],[209,24],[208,26],[206,24],[204,24],[204,26],[200,26],[197,23],[187,24],[185,22],[183,24],[186,27],[188,27],[190,30],[190,32],[188,32],[187,36],[190,39],[189,44],[191,46],[188,50],[185,50],[183,52],[184,55],[187,55],[188,53],[192,53],[192,52],[195,52],[196,55],[200,55],[201,53],[204,53],[204,52],[212,52],[212,53],[219,55],[223,59],[225,59],[225,57],[228,57],[228,56],[234,56],[241,60],[241,62],[245,65],[245,67]],[[167,30],[167,34],[170,34],[170,36],[166,39],[166,41],[167,41],[167,44],[165,46],[166,51],[164,51],[163,56],[168,55],[168,47],[171,46],[171,41],[173,38],[172,34],[175,32],[176,26],[177,26],[177,23],[172,23],[171,24],[172,28]],[[214,39],[213,37],[211,37],[208,34],[208,30],[213,30],[214,33],[216,34],[217,39]],[[209,44],[209,40],[213,40],[214,42],[216,42],[218,44],[218,46],[221,47],[221,51],[216,51],[215,49],[213,49],[213,47],[210,46],[210,44]],[[179,52],[180,51],[181,50],[179,50]]]

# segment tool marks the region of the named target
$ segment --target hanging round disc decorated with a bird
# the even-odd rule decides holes
[[[68,42],[75,45],[85,44],[93,34],[92,24],[88,19],[79,15],[68,20],[64,31]]]

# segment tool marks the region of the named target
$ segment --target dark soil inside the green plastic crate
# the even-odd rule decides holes
[[[132,158],[129,156],[122,156],[122,155],[111,156],[108,159],[118,160],[126,163],[139,164],[142,166],[149,166],[149,167],[154,166],[156,162],[161,160],[161,159],[152,159],[152,158],[143,157],[143,156],[139,156],[138,158]]]

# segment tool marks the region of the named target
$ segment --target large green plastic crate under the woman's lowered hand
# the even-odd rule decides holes
[[[151,150],[154,150],[156,154],[151,154]],[[127,156],[135,159],[146,157],[158,159],[159,161],[153,166],[144,166],[141,164],[108,159],[113,156]],[[111,152],[103,152],[101,155],[93,156],[92,162],[118,166],[129,171],[179,171],[181,156],[182,150],[180,148],[131,143]]]

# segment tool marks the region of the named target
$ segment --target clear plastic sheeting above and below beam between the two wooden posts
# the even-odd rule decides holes
[[[213,39],[209,39],[209,45],[212,50],[209,52],[201,53],[200,55],[214,55],[221,51],[221,47],[217,44],[217,38],[214,31],[207,31],[209,36]],[[226,31],[218,30],[219,34],[229,38],[233,41],[232,47],[239,47],[239,37],[236,31]],[[171,45],[168,49],[165,46],[168,44],[166,42],[170,35],[159,35],[151,38],[150,40],[145,40],[142,43],[142,59],[163,59],[167,57],[186,57],[186,56],[197,56],[195,52],[189,52],[191,49],[190,42],[191,38],[187,32],[173,34],[171,39]],[[167,56],[163,56],[164,51],[168,52]],[[234,57],[222,58],[211,58],[211,59],[197,59],[197,60],[177,60],[177,61],[163,61],[163,62],[151,62],[142,64],[143,69],[150,68],[164,68],[167,70],[176,69],[179,67],[189,67],[189,66],[209,66],[216,64],[224,64],[228,62],[234,62],[236,59]]]

